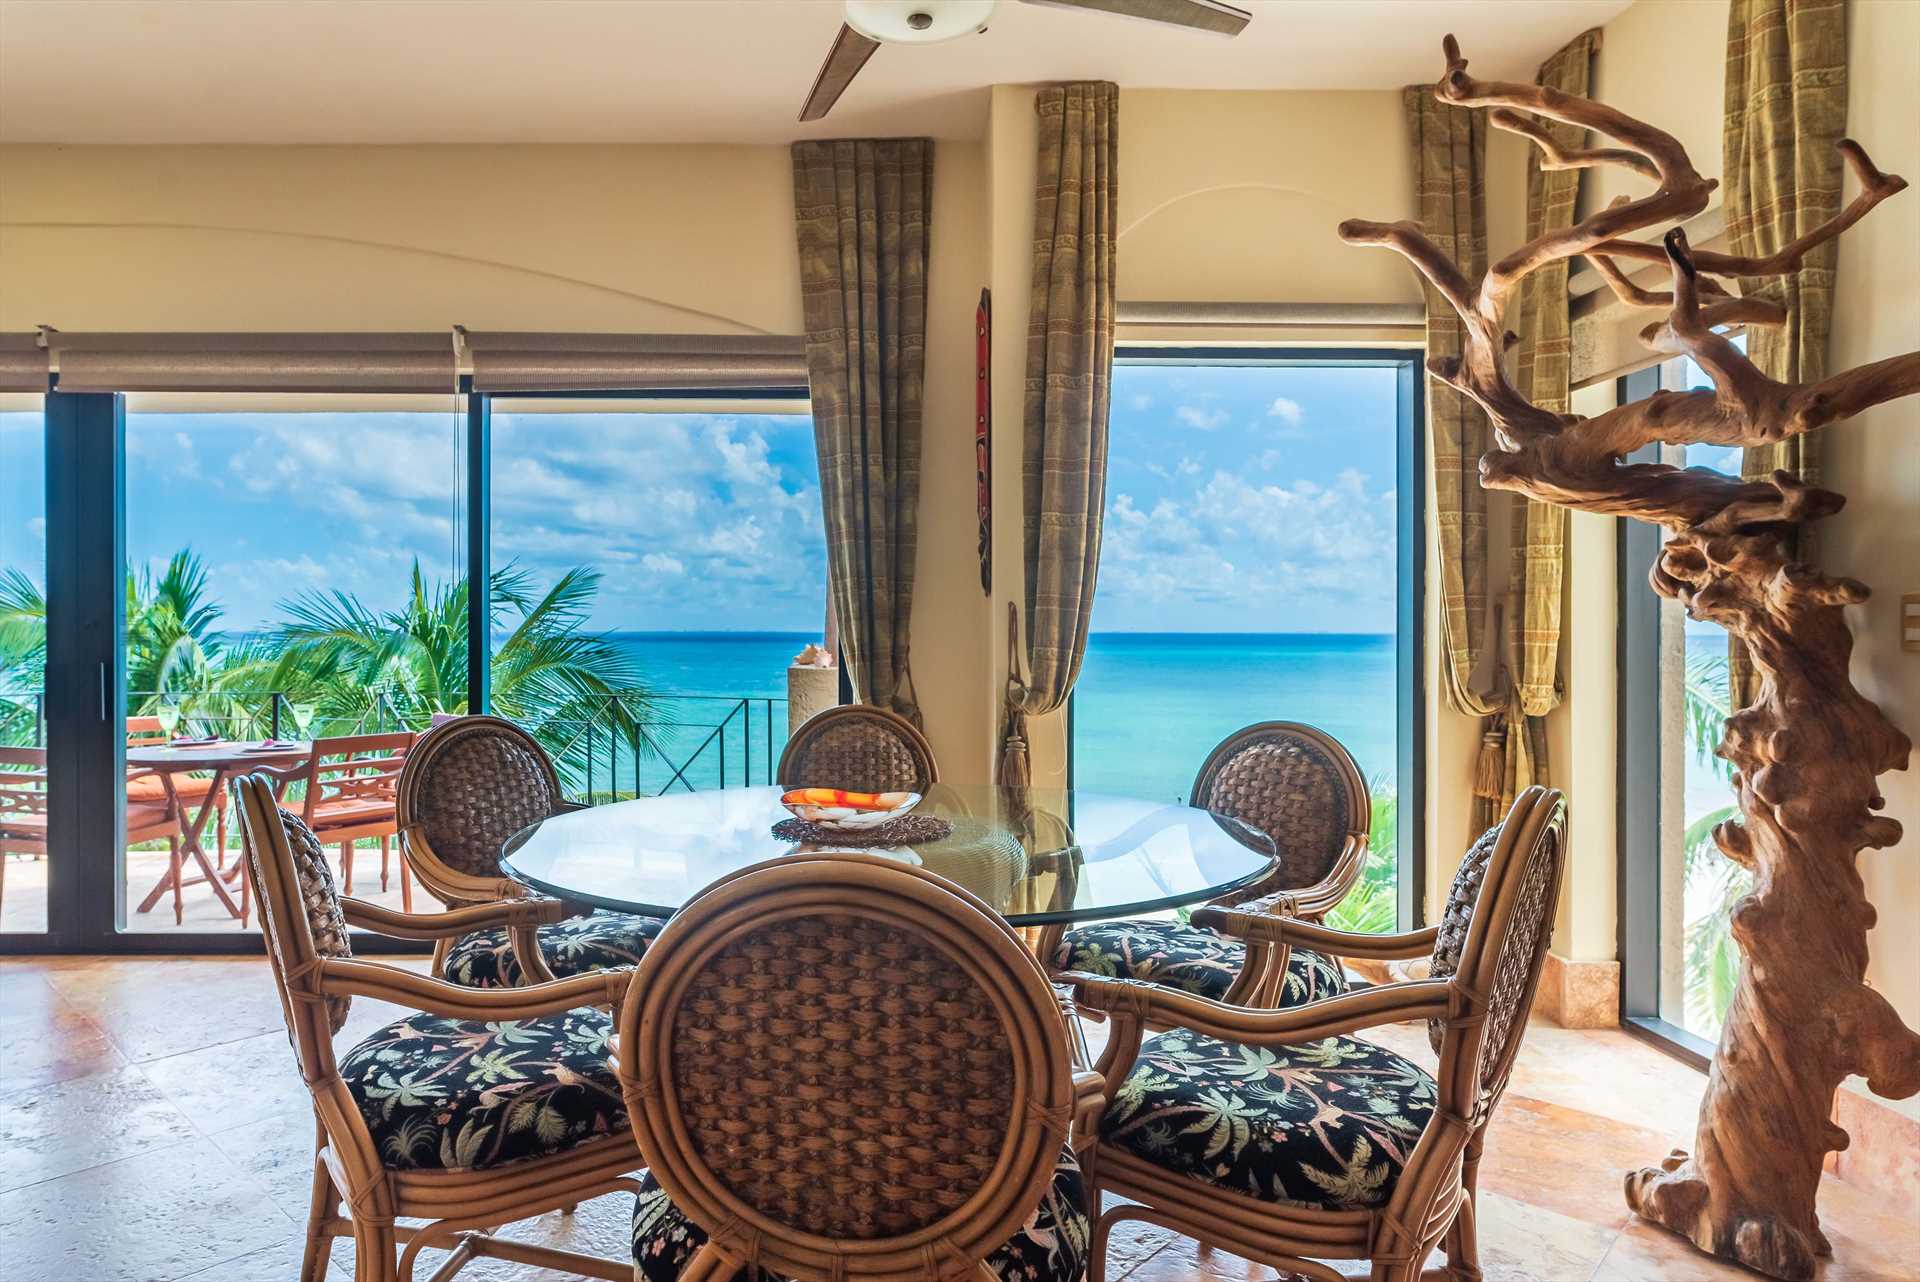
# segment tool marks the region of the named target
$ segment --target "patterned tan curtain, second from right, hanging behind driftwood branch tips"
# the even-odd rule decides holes
[[[1586,31],[1540,63],[1536,84],[1584,98],[1599,52],[1599,29]],[[1586,131],[1544,121],[1561,148],[1586,144]],[[1574,223],[1580,203],[1580,169],[1542,169],[1540,150],[1526,155],[1526,238]],[[1521,345],[1515,353],[1515,386],[1542,409],[1565,415],[1571,397],[1571,313],[1567,263],[1551,263],[1521,282]],[[1482,796],[1486,825],[1505,814],[1515,795],[1548,783],[1546,714],[1559,706],[1561,582],[1567,566],[1567,509],[1515,495],[1513,558],[1507,572],[1503,660],[1507,706],[1501,712],[1507,760],[1498,796]]]

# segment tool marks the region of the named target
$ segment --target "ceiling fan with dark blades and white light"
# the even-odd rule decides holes
[[[820,63],[814,88],[801,107],[803,121],[818,121],[847,92],[860,67],[881,44],[939,44],[987,29],[995,0],[845,0],[847,21]],[[1169,27],[1192,27],[1236,36],[1252,13],[1219,0],[1025,0],[1060,10],[1094,10],[1142,17]]]

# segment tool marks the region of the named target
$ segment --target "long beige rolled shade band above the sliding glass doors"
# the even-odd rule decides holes
[[[806,386],[787,334],[0,334],[0,392],[649,392]]]

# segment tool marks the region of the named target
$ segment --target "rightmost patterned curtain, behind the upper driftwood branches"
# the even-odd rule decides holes
[[[1839,213],[1847,131],[1845,0],[1732,0],[1726,19],[1726,238],[1734,253],[1774,253]],[[1788,276],[1741,278],[1740,292],[1784,303],[1788,322],[1747,330],[1747,355],[1772,378],[1826,376],[1839,242],[1812,249]],[[1757,445],[1741,476],[1786,470],[1820,480],[1820,432]],[[1809,530],[1797,555],[1814,557]],[[1734,706],[1753,702],[1753,668],[1728,639]]]

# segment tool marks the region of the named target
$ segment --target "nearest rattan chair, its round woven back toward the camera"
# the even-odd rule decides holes
[[[1077,1282],[1102,1079],[981,900],[795,856],[674,915],[618,1015],[637,1282]],[[755,1270],[764,1272],[755,1272]]]

